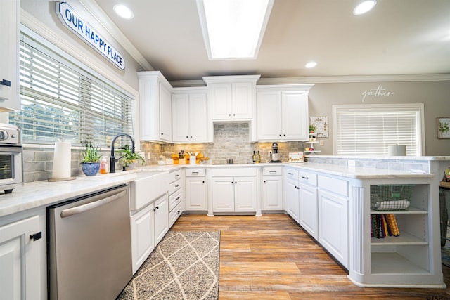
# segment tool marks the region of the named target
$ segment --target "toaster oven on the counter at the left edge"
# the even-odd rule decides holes
[[[18,126],[0,124],[0,190],[6,194],[23,185],[23,148]]]

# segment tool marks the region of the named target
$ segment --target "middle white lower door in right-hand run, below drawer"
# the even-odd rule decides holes
[[[300,185],[300,225],[314,237],[319,238],[319,204],[317,201],[317,188]]]

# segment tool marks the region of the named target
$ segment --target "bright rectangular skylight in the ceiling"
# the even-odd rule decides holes
[[[197,0],[210,60],[254,59],[274,0]]]

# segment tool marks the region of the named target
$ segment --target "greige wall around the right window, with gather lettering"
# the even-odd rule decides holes
[[[383,86],[390,96],[366,96],[362,93]],[[425,155],[450,155],[450,139],[437,138],[437,117],[450,117],[449,81],[366,82],[316,84],[309,91],[309,115],[328,116],[329,138],[323,138],[321,155],[333,155],[333,104],[424,103]]]

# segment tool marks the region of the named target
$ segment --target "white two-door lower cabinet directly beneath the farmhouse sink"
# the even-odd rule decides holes
[[[167,194],[131,214],[131,257],[133,274],[169,230]]]

